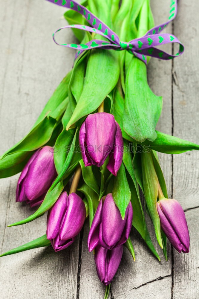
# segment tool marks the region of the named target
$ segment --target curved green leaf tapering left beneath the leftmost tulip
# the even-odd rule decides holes
[[[50,187],[50,189],[46,193],[46,196],[45,196],[42,204],[40,205],[40,207],[38,208],[38,210],[36,210],[36,212],[34,214],[30,215],[29,217],[27,217],[24,220],[10,224],[8,226],[22,225],[22,224],[31,222],[31,221],[35,220],[36,218],[42,216],[47,210],[49,210],[54,205],[56,200],[59,198],[59,195],[62,193],[63,189],[64,189],[64,185],[63,185],[62,181],[59,182],[56,185],[56,187],[54,187],[54,189],[51,189],[51,187]]]

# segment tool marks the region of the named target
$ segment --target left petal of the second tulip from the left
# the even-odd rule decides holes
[[[48,211],[46,230],[48,240],[54,239],[58,236],[62,218],[66,213],[68,206],[67,202],[68,194],[67,192],[63,192],[57,199],[56,203]]]

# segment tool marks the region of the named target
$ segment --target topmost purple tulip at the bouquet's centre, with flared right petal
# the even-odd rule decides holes
[[[100,167],[109,155],[108,170],[114,176],[122,163],[123,138],[114,116],[100,112],[88,115],[79,131],[79,144],[85,166]]]

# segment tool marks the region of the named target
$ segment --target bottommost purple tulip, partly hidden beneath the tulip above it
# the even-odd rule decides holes
[[[105,286],[113,280],[113,277],[120,265],[122,254],[123,245],[113,248],[112,250],[108,250],[101,246],[96,247],[94,259],[97,275]]]

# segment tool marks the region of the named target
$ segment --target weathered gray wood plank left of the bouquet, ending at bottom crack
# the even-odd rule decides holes
[[[54,44],[52,33],[66,24],[65,9],[46,1],[1,1],[1,154],[27,134],[56,86],[71,69],[74,51]],[[70,30],[66,39],[74,42]],[[19,175],[0,180],[1,252],[45,233],[46,217],[26,225],[9,223],[34,212],[15,203]],[[1,298],[76,298],[79,238],[55,253],[51,247],[3,257]]]

